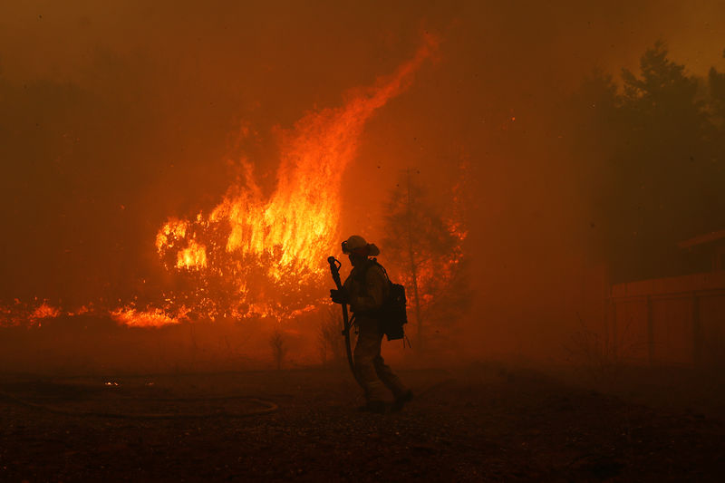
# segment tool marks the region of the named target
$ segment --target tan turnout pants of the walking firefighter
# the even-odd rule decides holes
[[[367,401],[383,401],[385,399],[385,388],[392,392],[394,397],[401,396],[406,387],[390,366],[382,360],[380,348],[382,343],[382,332],[377,319],[355,316],[355,324],[358,328],[357,343],[353,358],[355,371],[362,390],[365,391]]]

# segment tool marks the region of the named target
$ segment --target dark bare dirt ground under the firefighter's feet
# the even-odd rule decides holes
[[[498,364],[401,377],[414,401],[375,415],[355,410],[362,400],[343,369],[5,374],[0,480],[720,481],[725,472],[716,412]]]

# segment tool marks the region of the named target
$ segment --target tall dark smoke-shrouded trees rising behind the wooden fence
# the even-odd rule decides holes
[[[614,281],[686,271],[677,242],[725,229],[725,73],[693,75],[658,42],[621,82],[594,71],[570,107],[588,231]]]

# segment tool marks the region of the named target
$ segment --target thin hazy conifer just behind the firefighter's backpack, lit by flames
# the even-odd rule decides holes
[[[411,170],[401,173],[385,204],[386,255],[398,268],[408,294],[417,349],[432,325],[451,328],[469,307],[469,280],[460,220],[430,204]]]

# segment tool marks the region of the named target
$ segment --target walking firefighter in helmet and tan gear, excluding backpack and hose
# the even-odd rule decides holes
[[[387,275],[370,258],[378,256],[380,249],[363,237],[353,235],[343,242],[343,253],[348,255],[353,270],[343,284],[343,290],[332,290],[335,304],[350,304],[358,327],[353,359],[358,381],[365,391],[365,405],[361,411],[384,413],[385,388],[395,398],[391,410],[400,411],[411,401],[412,391],[407,389],[381,356],[382,330],[375,312],[390,292]]]

